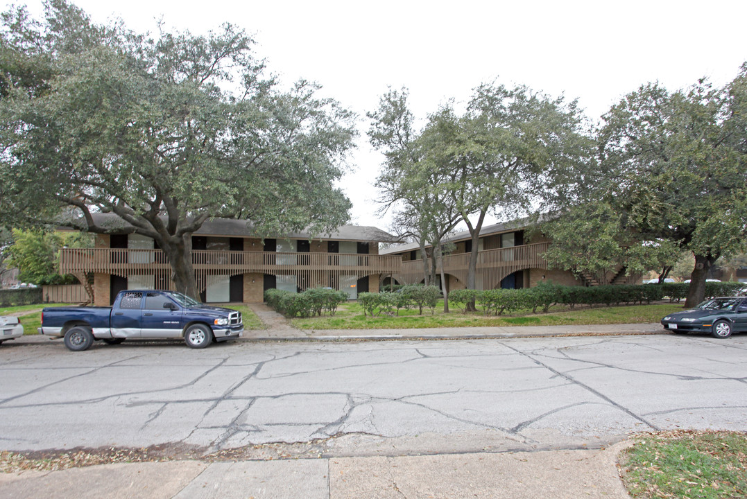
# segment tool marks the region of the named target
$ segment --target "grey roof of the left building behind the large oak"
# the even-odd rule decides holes
[[[92,213],[93,222],[96,225],[110,227],[111,233],[128,232],[129,225],[119,216],[113,213]],[[69,230],[72,227],[66,227]],[[254,231],[251,222],[237,219],[208,219],[194,233],[196,236],[217,236],[217,237],[259,237]],[[269,237],[269,236],[268,236]],[[314,239],[314,240],[335,240],[335,241],[361,241],[361,242],[400,242],[396,236],[377,228],[362,225],[341,225],[329,233],[314,233],[313,236],[309,231],[291,232],[287,234],[275,235],[276,238],[283,239]]]

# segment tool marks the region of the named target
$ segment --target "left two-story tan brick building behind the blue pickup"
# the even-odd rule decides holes
[[[173,289],[166,254],[153,239],[125,232],[97,234],[95,248],[61,251],[61,272],[78,277],[96,305],[111,304],[122,289]],[[379,242],[395,241],[376,227],[356,225],[261,239],[245,220],[213,219],[193,234],[192,265],[208,303],[259,303],[270,288],[329,287],[355,299],[359,292],[377,292],[383,276],[400,272],[401,257],[379,255]]]

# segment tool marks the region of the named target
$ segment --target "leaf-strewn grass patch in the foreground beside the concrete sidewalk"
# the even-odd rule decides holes
[[[620,456],[620,471],[633,498],[747,498],[747,434],[642,437]]]

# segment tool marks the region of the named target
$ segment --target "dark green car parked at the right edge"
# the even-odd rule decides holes
[[[710,333],[715,338],[728,338],[731,333],[747,330],[747,298],[710,298],[692,310],[669,314],[661,319],[661,324],[674,333],[697,331]]]

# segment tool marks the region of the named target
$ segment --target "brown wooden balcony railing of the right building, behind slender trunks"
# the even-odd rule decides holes
[[[531,245],[514,246],[512,248],[500,248],[484,250],[477,253],[477,289],[492,289],[500,284],[500,280],[509,274],[524,269],[547,269],[548,263],[541,256],[548,251],[547,242],[538,242]],[[468,253],[451,254],[444,257],[444,273],[451,274],[462,283],[467,282],[469,268]],[[427,259],[430,269],[430,258]],[[441,267],[438,266],[438,272]],[[410,260],[402,263],[402,272],[395,274],[394,278],[400,283],[412,284],[423,280],[423,260]]]

